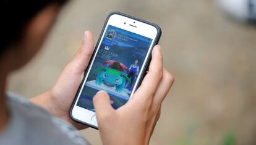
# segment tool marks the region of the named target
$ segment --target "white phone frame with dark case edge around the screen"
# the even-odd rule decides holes
[[[125,24],[125,23],[126,24]],[[134,23],[135,22],[135,23]],[[135,25],[134,26],[130,26]],[[161,29],[158,25],[147,22],[145,20],[140,20],[139,18],[135,18],[126,14],[122,14],[120,12],[111,12],[105,22],[105,25],[103,26],[103,29],[101,31],[100,39],[98,39],[98,42],[95,47],[95,51],[93,52],[92,58],[89,63],[89,67],[85,70],[85,76],[83,77],[82,83],[80,84],[79,90],[77,91],[77,94],[75,96],[74,103],[72,104],[72,108],[70,109],[70,117],[79,123],[84,123],[92,128],[98,129],[98,124],[92,121],[92,117],[95,116],[95,112],[90,111],[88,109],[81,108],[77,106],[77,101],[79,100],[80,94],[82,93],[82,88],[85,85],[85,80],[87,80],[88,72],[90,72],[90,69],[92,68],[93,61],[95,60],[96,53],[98,52],[98,49],[100,48],[101,41],[103,40],[103,36],[105,36],[106,29],[108,28],[108,25],[116,26],[117,28],[125,29],[127,31],[130,31],[132,33],[140,34],[145,37],[149,37],[152,39],[150,49],[147,52],[147,55],[145,57],[145,61],[143,62],[140,74],[138,76],[137,82],[135,82],[134,90],[132,91],[130,98],[132,98],[132,95],[134,94],[135,90],[139,87],[140,83],[142,82],[143,76],[145,74],[145,71],[148,67],[148,64],[151,59],[151,50],[153,49],[153,46],[158,44],[158,41],[161,36]],[[129,100],[130,100],[129,98]]]

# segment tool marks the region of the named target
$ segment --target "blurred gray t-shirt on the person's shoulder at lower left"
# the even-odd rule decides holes
[[[89,144],[70,123],[14,93],[7,93],[10,119],[0,132],[1,145]]]

